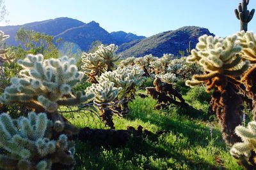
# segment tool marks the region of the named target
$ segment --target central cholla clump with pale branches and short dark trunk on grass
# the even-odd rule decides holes
[[[115,129],[113,113],[125,115],[128,112],[128,101],[134,97],[136,87],[145,79],[140,67],[118,67],[96,76],[99,83],[94,83],[85,92],[95,95],[93,103],[99,106],[100,117],[106,125]]]

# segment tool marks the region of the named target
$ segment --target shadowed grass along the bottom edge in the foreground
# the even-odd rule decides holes
[[[122,148],[102,148],[77,141],[75,169],[220,169],[203,159],[188,159],[183,145],[132,138]]]

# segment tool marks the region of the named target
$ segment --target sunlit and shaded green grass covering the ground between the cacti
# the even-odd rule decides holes
[[[120,148],[77,141],[75,169],[241,169],[230,156],[216,120],[211,135],[207,103],[193,101],[191,96],[184,98],[201,112],[176,106],[154,110],[154,99],[136,97],[129,104],[127,118],[114,118],[116,129],[142,125],[148,131],[167,133],[155,139],[131,139]],[[72,122],[83,127],[88,120],[82,116]],[[103,126],[99,121],[90,124],[92,128]]]

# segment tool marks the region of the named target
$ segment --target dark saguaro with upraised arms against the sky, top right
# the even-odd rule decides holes
[[[235,15],[238,20],[240,20],[240,31],[247,31],[248,22],[250,22],[253,18],[255,10],[252,11],[247,10],[247,6],[249,4],[249,0],[242,0],[242,3],[239,3],[238,9],[235,9]]]

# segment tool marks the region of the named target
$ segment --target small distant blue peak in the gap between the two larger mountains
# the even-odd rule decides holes
[[[111,32],[110,34],[113,39],[116,40],[116,45],[121,45],[123,43],[146,38],[145,36],[137,36],[136,34],[132,34],[131,32],[126,33],[124,31]]]

